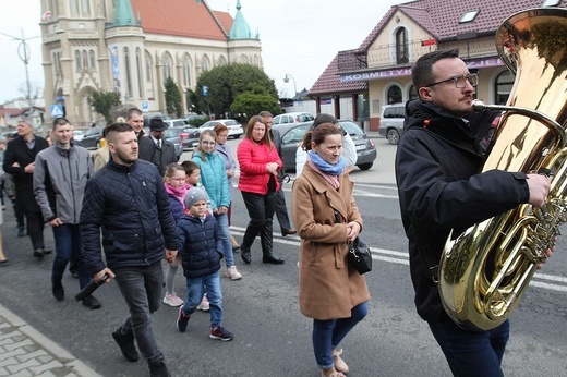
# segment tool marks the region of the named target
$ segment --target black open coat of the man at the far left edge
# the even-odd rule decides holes
[[[2,167],[7,173],[14,178],[16,206],[24,214],[41,212],[34,195],[34,174],[25,173],[24,169],[27,165],[35,162],[37,154],[47,147],[49,147],[49,144],[39,136],[35,136],[33,149],[27,147],[25,139],[21,136],[9,142],[5,147]],[[20,166],[14,167],[14,162]]]

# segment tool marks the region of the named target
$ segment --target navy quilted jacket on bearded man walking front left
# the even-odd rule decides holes
[[[81,211],[81,239],[85,263],[94,275],[109,268],[149,266],[165,250],[177,250],[176,223],[161,175],[149,162],[131,166],[110,160],[85,188]]]

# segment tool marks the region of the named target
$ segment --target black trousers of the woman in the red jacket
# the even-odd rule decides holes
[[[242,198],[249,211],[250,222],[241,246],[250,248],[260,233],[262,252],[270,254],[274,243],[273,223],[276,211],[276,193],[268,192],[266,195],[261,195],[242,192]]]

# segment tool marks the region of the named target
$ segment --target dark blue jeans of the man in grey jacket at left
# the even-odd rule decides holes
[[[79,258],[79,285],[85,288],[91,281],[83,259],[83,247],[81,245],[81,232],[79,224],[63,223],[53,227],[53,240],[56,241],[56,257],[53,258],[53,269],[51,282],[61,283],[67,265],[74,255]]]

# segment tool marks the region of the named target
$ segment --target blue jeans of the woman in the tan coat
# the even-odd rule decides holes
[[[354,306],[350,318],[313,319],[313,351],[315,361],[321,369],[330,369],[335,363],[333,361],[333,350],[335,350],[342,339],[360,323],[369,313],[369,302]]]

